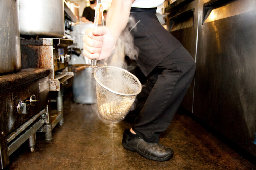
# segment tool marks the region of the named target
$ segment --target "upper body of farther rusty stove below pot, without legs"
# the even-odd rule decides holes
[[[73,40],[61,38],[22,39],[22,68],[50,68],[50,90],[59,91],[73,81],[73,72],[68,72],[70,55],[68,46]]]

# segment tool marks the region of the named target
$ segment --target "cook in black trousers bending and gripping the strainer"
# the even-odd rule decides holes
[[[131,31],[134,46],[139,48],[136,63],[147,81],[136,100],[141,108],[136,108],[131,129],[124,131],[122,145],[156,161],[173,157],[173,150],[160,144],[159,136],[170,125],[196,68],[188,51],[158,22],[156,7],[163,1],[112,0],[106,26],[86,29],[83,37],[84,55],[105,59],[111,55],[129,17],[137,23]]]

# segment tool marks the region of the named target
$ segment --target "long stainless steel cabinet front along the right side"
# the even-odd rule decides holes
[[[194,2],[179,7],[195,9],[193,26],[171,30],[195,56],[192,112],[256,156],[256,1]],[[188,25],[189,20],[184,22]]]

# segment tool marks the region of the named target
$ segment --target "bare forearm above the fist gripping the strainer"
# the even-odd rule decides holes
[[[108,10],[106,26],[110,29],[115,40],[119,37],[122,30],[127,25],[131,4],[134,0],[112,0]]]

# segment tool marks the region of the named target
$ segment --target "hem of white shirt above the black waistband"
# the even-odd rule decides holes
[[[155,8],[161,6],[164,0],[135,0],[131,7],[135,8]]]

